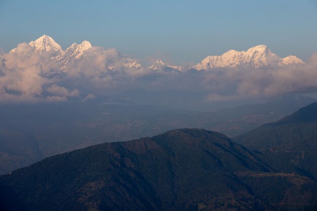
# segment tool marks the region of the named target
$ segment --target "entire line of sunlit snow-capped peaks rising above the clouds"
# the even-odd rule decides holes
[[[33,53],[37,55],[42,55],[43,53],[50,51],[57,52],[57,56],[53,57],[52,59],[58,60],[62,69],[66,69],[68,62],[74,62],[76,59],[82,57],[85,51],[92,48],[92,45],[89,43],[89,41],[85,40],[79,45],[76,43],[72,44],[64,51],[61,46],[48,35],[43,35],[34,41],[30,41],[28,45],[34,49]],[[12,53],[15,51],[16,48],[12,49],[10,52]],[[120,58],[124,58],[125,60],[122,63],[122,67],[137,69],[144,67],[137,60],[131,59],[127,56],[120,55]],[[260,68],[292,64],[304,64],[304,62],[292,55],[285,58],[280,58],[278,55],[272,53],[265,45],[259,45],[252,47],[247,51],[239,52],[235,50],[229,50],[220,56],[208,56],[191,68],[195,70],[211,70],[213,68]],[[155,60],[153,64],[144,68],[149,68],[152,70],[185,70],[185,67],[166,64],[162,60]],[[113,67],[109,66],[108,69],[111,70]]]

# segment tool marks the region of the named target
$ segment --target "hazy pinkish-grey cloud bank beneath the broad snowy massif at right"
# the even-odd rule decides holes
[[[225,70],[212,73],[204,84],[212,92],[209,100],[246,97],[274,97],[288,93],[317,91],[317,56],[307,64],[281,67]]]

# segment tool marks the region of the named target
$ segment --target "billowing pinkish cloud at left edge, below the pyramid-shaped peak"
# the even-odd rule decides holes
[[[57,97],[79,95],[76,89],[69,92],[55,84],[60,79],[54,78],[54,74],[60,73],[60,67],[57,61],[52,60],[51,53],[39,56],[32,52],[30,46],[22,43],[14,53],[4,54],[0,58],[1,103],[53,101]],[[45,90],[52,95],[46,96]]]

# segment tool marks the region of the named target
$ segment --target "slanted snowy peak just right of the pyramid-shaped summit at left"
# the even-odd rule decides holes
[[[65,66],[68,62],[73,62],[76,59],[80,58],[85,51],[92,48],[92,45],[89,41],[83,41],[81,44],[73,43],[70,47],[68,47],[57,60],[60,62],[62,66]]]

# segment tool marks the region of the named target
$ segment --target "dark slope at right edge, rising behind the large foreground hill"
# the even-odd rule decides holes
[[[317,102],[234,139],[278,171],[317,179]]]

